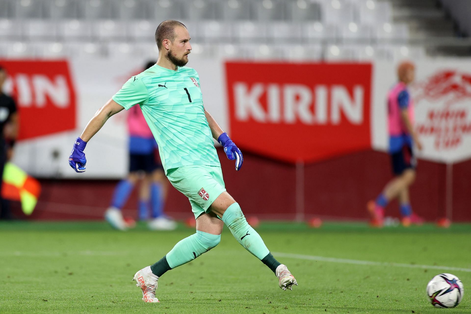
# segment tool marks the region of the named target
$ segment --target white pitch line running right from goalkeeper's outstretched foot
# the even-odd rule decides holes
[[[460,268],[460,267],[361,261],[361,260],[357,260],[357,259],[301,255],[301,254],[291,254],[291,253],[281,253],[281,252],[272,252],[272,254],[275,255],[275,256],[305,259],[305,260],[309,260],[309,261],[322,261],[322,262],[341,263],[341,264],[356,264],[356,265],[395,266],[395,267],[408,267],[408,268],[440,269],[440,270],[460,271],[460,272],[471,273],[470,268]]]

